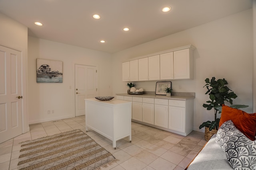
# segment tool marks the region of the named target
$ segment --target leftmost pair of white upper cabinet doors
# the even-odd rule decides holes
[[[138,81],[138,60],[122,63],[123,82]]]

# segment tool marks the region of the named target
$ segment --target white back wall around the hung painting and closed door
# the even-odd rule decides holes
[[[63,61],[63,83],[37,83],[37,58]],[[29,124],[75,116],[75,64],[97,66],[99,95],[112,95],[110,54],[28,37]],[[47,110],[54,110],[54,114],[47,114]]]

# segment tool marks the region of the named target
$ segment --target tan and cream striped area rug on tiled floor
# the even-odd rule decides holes
[[[81,130],[22,143],[18,170],[94,170],[114,156]]]

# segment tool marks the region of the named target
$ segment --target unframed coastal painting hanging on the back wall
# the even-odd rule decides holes
[[[62,61],[36,59],[36,82],[62,83]]]

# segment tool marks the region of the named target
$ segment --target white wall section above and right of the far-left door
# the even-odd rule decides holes
[[[22,133],[29,131],[27,113],[27,49],[28,28],[0,13],[0,45],[21,52],[22,60]]]

